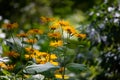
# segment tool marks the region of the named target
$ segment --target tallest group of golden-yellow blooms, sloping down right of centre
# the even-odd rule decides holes
[[[86,38],[86,34],[79,33],[75,27],[70,25],[68,21],[57,20],[53,21],[49,26],[50,32],[48,33],[48,37],[52,38],[50,42],[50,46],[52,47],[60,47],[63,46],[64,35],[67,34],[67,38],[77,37],[81,39]]]

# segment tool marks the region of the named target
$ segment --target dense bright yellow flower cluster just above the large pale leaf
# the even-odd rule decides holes
[[[53,65],[58,65],[58,62],[55,60],[57,59],[57,56],[55,54],[49,54],[47,52],[40,52],[33,48],[25,48],[27,51],[27,54],[25,54],[25,59],[34,59],[37,64],[45,64],[47,62],[50,62]]]

